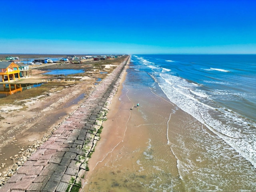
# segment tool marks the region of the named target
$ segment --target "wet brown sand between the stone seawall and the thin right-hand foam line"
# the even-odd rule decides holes
[[[150,88],[135,90],[123,83],[109,107],[82,191],[144,191],[144,185],[152,183],[160,189],[159,173],[151,172],[150,167],[166,169],[161,179],[172,177],[172,182],[180,182],[166,136],[172,108],[173,104]],[[176,189],[182,189],[182,185],[176,185]]]

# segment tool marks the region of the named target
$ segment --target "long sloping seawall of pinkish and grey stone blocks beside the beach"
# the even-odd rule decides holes
[[[102,122],[116,93],[126,58],[92,95],[30,156],[0,192],[79,191],[86,181],[88,159],[100,139]]]

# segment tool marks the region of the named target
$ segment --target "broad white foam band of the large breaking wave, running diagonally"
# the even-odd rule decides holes
[[[195,86],[190,82],[167,73],[160,74],[160,76],[164,81],[159,82],[159,86],[170,101],[202,122],[202,124],[205,124],[208,129],[236,149],[256,167],[256,148],[254,146],[256,133],[247,125],[247,120],[230,111],[223,110],[220,113],[215,108],[200,102],[192,95],[195,92],[191,92],[191,90]],[[204,98],[205,95],[202,94],[201,96]],[[218,115],[218,118],[213,118],[211,114]],[[221,117],[226,123],[219,120]],[[241,130],[246,130],[246,133],[241,132]],[[248,135],[248,133],[250,134]]]

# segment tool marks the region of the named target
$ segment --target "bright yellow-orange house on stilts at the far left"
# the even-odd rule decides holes
[[[0,62],[0,75],[2,75],[2,81],[4,82],[4,78],[7,77],[8,82],[10,82],[10,78],[15,80],[15,75],[17,74],[20,79],[20,70],[19,66],[14,62],[3,61]]]

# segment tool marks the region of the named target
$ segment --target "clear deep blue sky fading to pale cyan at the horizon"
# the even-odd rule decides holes
[[[0,53],[256,54],[256,1],[1,0]]]

